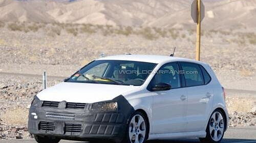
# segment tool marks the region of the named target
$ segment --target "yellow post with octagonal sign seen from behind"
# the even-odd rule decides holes
[[[204,18],[204,4],[201,0],[194,0],[191,4],[191,17],[197,23],[196,60],[200,61],[201,22]]]

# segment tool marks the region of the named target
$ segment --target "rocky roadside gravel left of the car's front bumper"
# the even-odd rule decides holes
[[[48,82],[52,86],[60,81]],[[37,78],[0,75],[0,139],[30,138],[27,107],[41,88]]]

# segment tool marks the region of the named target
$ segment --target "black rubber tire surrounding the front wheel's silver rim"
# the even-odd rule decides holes
[[[133,113],[133,115],[131,116],[131,118],[129,119],[129,124],[127,124],[127,128],[126,128],[126,131],[125,131],[125,135],[124,135],[124,138],[123,140],[121,141],[122,143],[134,143],[131,141],[130,139],[130,136],[129,136],[129,131],[130,131],[130,124],[131,124],[131,120],[133,119],[133,117],[135,117],[136,115],[139,115],[143,118],[144,120],[144,123],[145,123],[145,137],[144,137],[144,140],[140,143],[145,143],[145,141],[147,140],[148,138],[148,133],[149,133],[149,129],[150,129],[150,124],[146,118],[146,115],[144,115],[144,113],[140,112],[140,111],[135,111]]]

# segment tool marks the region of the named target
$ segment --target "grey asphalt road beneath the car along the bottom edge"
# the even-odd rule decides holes
[[[61,143],[74,143],[80,141],[69,141],[62,140]],[[148,143],[197,143],[199,140],[197,138],[189,139],[173,139],[173,140],[153,140],[147,141]],[[246,128],[229,128],[225,133],[222,143],[256,143],[256,128],[246,127]],[[0,140],[0,143],[36,143],[33,139],[17,139],[17,140]],[[85,143],[85,142],[84,142]],[[105,143],[105,142],[102,142]]]

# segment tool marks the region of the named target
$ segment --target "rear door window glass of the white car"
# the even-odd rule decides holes
[[[181,63],[182,74],[184,74],[186,87],[193,87],[204,84],[204,77],[197,64]]]

